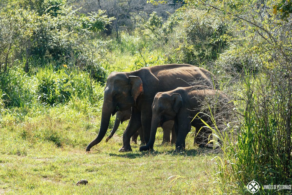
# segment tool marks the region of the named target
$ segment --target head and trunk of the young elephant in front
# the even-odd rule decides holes
[[[155,135],[159,123],[161,126],[168,120],[174,120],[180,108],[183,106],[183,100],[180,94],[168,94],[159,92],[155,95],[152,104],[152,121],[150,140],[146,146],[140,147],[140,151],[150,150],[153,148]]]

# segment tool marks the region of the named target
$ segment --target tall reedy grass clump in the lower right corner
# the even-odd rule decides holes
[[[263,185],[291,184],[291,86],[281,70],[265,74],[245,71],[234,84],[237,120],[223,137],[223,158],[216,158],[218,191],[247,192],[248,182],[256,180],[259,194],[282,194],[287,190],[263,189]],[[291,193],[291,191],[290,191]]]

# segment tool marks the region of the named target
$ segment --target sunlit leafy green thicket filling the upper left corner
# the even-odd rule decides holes
[[[91,47],[84,42],[101,37],[105,25],[113,19],[108,18],[105,11],[79,14],[65,0],[9,1],[0,10],[0,25],[4,27],[0,28],[0,46],[3,48],[0,72],[14,65],[15,58],[25,59],[26,72],[31,59],[37,59],[41,65],[67,64],[83,69],[84,63],[78,64],[78,61],[86,60],[85,64],[88,64],[93,61],[92,58],[100,60],[98,52],[82,58],[88,56],[88,48]],[[102,41],[97,43],[101,43],[96,46],[98,49],[104,46]]]

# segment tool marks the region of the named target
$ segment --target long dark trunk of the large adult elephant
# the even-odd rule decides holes
[[[98,144],[103,137],[105,137],[112,113],[114,113],[114,104],[112,102],[106,103],[104,101],[102,105],[101,123],[98,135],[93,141],[90,142],[90,144],[88,144],[86,151],[90,151],[93,146]]]

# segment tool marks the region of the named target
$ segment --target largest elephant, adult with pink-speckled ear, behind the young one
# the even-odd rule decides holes
[[[204,68],[189,64],[168,64],[141,68],[132,72],[112,72],[107,77],[101,124],[98,136],[86,147],[90,151],[105,136],[111,115],[132,107],[128,126],[123,134],[123,146],[119,151],[132,151],[131,136],[142,126],[146,143],[150,138],[152,102],[157,92],[188,87],[213,87],[213,75]]]

